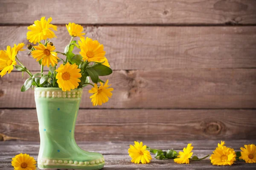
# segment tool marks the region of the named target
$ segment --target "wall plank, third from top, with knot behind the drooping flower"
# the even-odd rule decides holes
[[[0,78],[0,108],[35,108],[34,91],[20,92],[27,77]],[[102,78],[110,80],[112,98],[93,107],[87,86],[80,108],[256,108],[256,69],[114,71]]]

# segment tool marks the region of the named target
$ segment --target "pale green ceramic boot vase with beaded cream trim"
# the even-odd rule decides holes
[[[104,167],[102,154],[82,150],[74,139],[76,117],[82,89],[35,88],[41,170],[99,170]]]

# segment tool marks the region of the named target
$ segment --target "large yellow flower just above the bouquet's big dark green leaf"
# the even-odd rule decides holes
[[[81,56],[83,57],[84,61],[88,62],[101,62],[103,59],[105,59],[105,51],[104,46],[100,44],[97,40],[92,40],[90,38],[81,39],[79,40],[79,45],[81,51],[79,52]]]

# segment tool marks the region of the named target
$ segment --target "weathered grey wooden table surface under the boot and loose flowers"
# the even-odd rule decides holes
[[[193,155],[199,158],[211,154],[220,141],[216,140],[200,140],[186,142],[147,142],[144,144],[151,148],[157,149],[175,149],[180,151],[191,142]],[[244,144],[255,144],[256,140],[230,140],[225,141],[227,147],[232,147],[235,151],[240,151],[240,147]],[[169,170],[169,169],[256,169],[256,164],[246,164],[244,161],[236,161],[232,166],[214,166],[211,164],[209,157],[203,161],[190,161],[190,164],[176,164],[173,160],[157,160],[152,159],[149,164],[131,163],[128,156],[129,144],[133,142],[78,142],[79,146],[88,151],[97,151],[105,157],[105,167],[103,170]],[[39,150],[38,142],[0,142],[0,170],[13,170],[11,165],[12,157],[19,153],[27,153],[37,159]],[[153,156],[153,155],[152,155]]]

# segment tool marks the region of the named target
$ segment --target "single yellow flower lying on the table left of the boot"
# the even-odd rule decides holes
[[[26,153],[20,153],[12,158],[12,166],[14,167],[14,170],[35,170],[35,164],[35,159]]]

